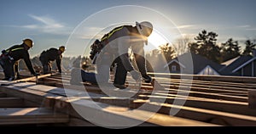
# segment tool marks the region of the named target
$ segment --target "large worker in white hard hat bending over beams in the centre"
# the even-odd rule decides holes
[[[153,25],[148,21],[136,25],[122,25],[114,28],[101,39],[101,46],[104,46],[97,55],[97,73],[98,83],[108,82],[109,67],[116,65],[113,86],[119,89],[125,89],[127,72],[136,81],[141,81],[141,76],[145,82],[151,82],[152,78],[147,74],[146,61],[144,59],[144,44],[148,43],[148,36],[153,31]],[[131,64],[128,55],[131,48],[137,63],[138,70],[135,70]],[[94,52],[93,50],[91,52]]]

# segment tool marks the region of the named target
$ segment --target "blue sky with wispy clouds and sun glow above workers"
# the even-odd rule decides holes
[[[2,0],[0,46],[8,48],[29,37],[35,42],[32,57],[61,45],[67,46],[64,56],[78,56],[107,27],[142,20],[154,25],[159,37],[150,39],[153,44],[161,43],[160,38],[172,42],[178,34],[196,36],[202,30],[216,32],[218,43],[230,37],[253,40],[255,6],[255,0]]]

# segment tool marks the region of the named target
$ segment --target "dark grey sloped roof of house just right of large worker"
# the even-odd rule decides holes
[[[181,64],[183,64],[185,66],[185,68],[191,69],[191,67],[192,67],[194,74],[198,74],[201,70],[206,68],[207,65],[211,66],[212,69],[214,69],[216,71],[220,70],[223,67],[223,65],[215,63],[215,62],[213,62],[199,54],[195,54],[195,53],[184,53],[183,55],[180,55],[173,60],[179,61]],[[192,60],[192,62],[190,60]],[[170,61],[168,63],[168,65],[171,63],[172,63],[172,61]]]

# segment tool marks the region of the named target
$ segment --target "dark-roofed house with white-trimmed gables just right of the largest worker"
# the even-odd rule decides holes
[[[218,70],[223,67],[224,65],[195,53],[184,53],[164,66],[166,70],[170,70],[170,73],[192,75],[221,75]]]

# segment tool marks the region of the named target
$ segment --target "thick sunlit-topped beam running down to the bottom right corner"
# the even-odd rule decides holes
[[[158,112],[161,114],[170,114],[170,110],[172,109],[172,112],[175,113],[172,113],[172,115],[177,117],[208,122],[220,126],[256,126],[256,117],[244,114],[233,114],[223,111],[198,109],[168,103],[147,102],[144,103],[143,108],[148,108],[147,110],[160,108]]]

